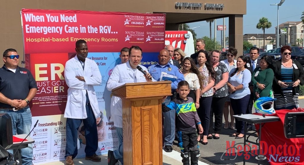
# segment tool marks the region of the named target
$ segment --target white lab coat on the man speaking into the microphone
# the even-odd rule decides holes
[[[139,65],[143,70],[148,72],[148,69],[142,65]],[[152,78],[152,81],[155,81]],[[129,61],[124,64],[116,65],[113,69],[111,76],[109,77],[107,83],[107,89],[112,91],[112,89],[117,88],[126,83],[135,82],[147,82],[146,78],[137,69],[132,69]],[[112,96],[111,98],[111,119],[114,121],[114,126],[123,128],[123,102],[119,97]]]

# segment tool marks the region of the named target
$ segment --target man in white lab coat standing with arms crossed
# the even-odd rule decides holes
[[[83,122],[85,126],[85,159],[100,162],[96,155],[98,135],[96,119],[100,116],[98,102],[93,86],[101,84],[101,74],[95,61],[88,59],[88,45],[85,40],[76,41],[77,54],[67,61],[64,77],[69,87],[64,117],[67,118],[67,144],[65,158],[67,165],[73,165],[77,156],[78,129]]]

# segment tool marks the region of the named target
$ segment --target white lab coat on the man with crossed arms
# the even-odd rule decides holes
[[[84,81],[78,80],[75,76],[82,76]],[[101,74],[95,61],[85,59],[85,69],[83,70],[77,55],[68,60],[64,67],[64,77],[67,86],[67,105],[65,107],[64,117],[71,119],[86,119],[85,109],[86,92],[95,118],[100,116],[98,101],[93,86],[101,84]]]

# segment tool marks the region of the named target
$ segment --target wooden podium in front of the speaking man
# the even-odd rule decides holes
[[[112,90],[123,101],[123,162],[162,165],[161,99],[171,96],[171,81],[127,83]]]

